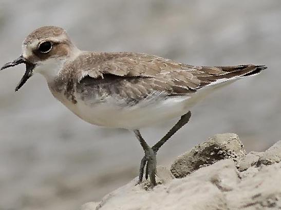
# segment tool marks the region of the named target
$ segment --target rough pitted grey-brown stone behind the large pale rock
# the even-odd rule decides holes
[[[179,156],[171,166],[171,172],[176,178],[189,175],[200,167],[231,158],[239,167],[246,151],[236,134],[217,134],[207,141],[198,144],[189,152]]]

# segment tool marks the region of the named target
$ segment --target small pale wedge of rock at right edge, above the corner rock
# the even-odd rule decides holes
[[[276,142],[257,161],[257,165],[270,165],[281,161],[281,141]]]

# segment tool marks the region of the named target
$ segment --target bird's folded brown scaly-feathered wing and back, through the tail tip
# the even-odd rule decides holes
[[[84,52],[65,69],[69,71],[64,73],[69,77],[66,80],[73,79],[80,84],[90,77],[90,84],[96,90],[110,86],[108,92],[137,100],[153,92],[168,96],[189,95],[216,81],[249,76],[266,67],[198,67],[140,53]]]

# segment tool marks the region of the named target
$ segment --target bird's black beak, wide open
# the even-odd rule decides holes
[[[11,62],[8,62],[7,64],[5,64],[1,69],[7,69],[9,67],[14,67],[16,65],[19,65],[19,64],[25,64],[26,66],[26,71],[21,79],[20,82],[18,82],[18,85],[15,87],[15,91],[18,91],[18,89],[20,89],[24,83],[32,76],[32,70],[34,69],[35,65],[32,64],[32,62],[26,60],[23,55],[21,55],[20,57],[16,58],[15,60],[11,61]]]

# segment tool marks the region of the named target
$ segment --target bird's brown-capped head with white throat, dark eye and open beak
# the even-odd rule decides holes
[[[45,26],[31,32],[23,42],[20,57],[8,62],[0,70],[18,64],[26,65],[25,74],[15,88],[17,91],[33,73],[39,72],[47,79],[53,77],[62,64],[78,51],[64,29]]]

